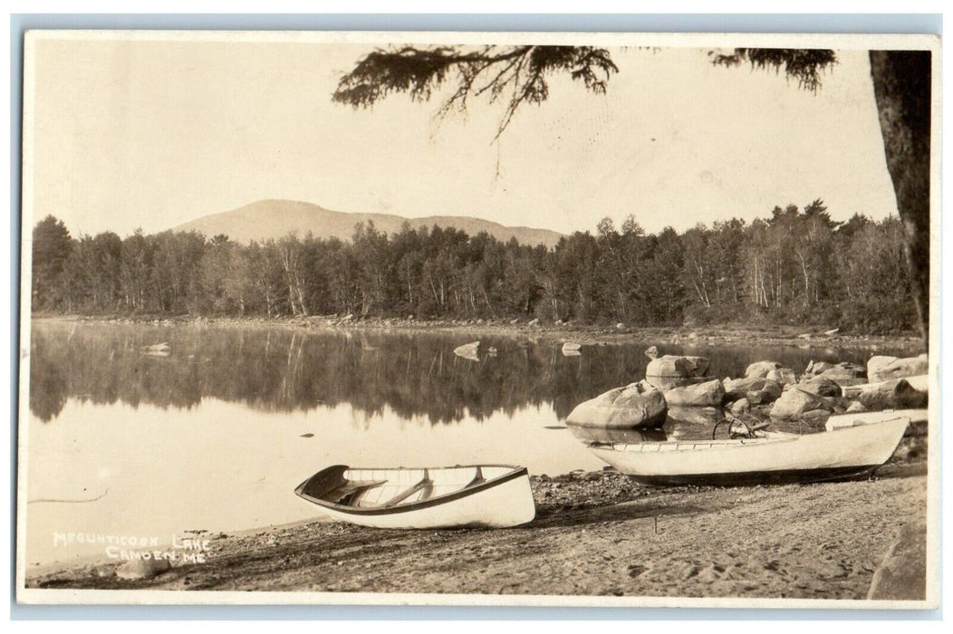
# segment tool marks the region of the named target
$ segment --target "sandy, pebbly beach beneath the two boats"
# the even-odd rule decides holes
[[[874,479],[644,487],[607,468],[533,478],[537,519],[505,530],[304,522],[210,540],[151,580],[121,563],[33,573],[27,587],[864,599],[902,527],[925,516],[910,439]],[[919,447],[919,445],[918,445]]]

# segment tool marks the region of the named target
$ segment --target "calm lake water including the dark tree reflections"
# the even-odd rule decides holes
[[[503,462],[550,475],[601,468],[565,417],[578,402],[643,378],[652,344],[663,354],[710,358],[720,378],[741,376],[756,360],[800,373],[811,359],[863,363],[873,354],[656,340],[564,357],[555,342],[481,337],[497,357],[454,355],[473,339],[37,321],[26,429],[28,564],[102,554],[96,540],[106,536],[168,543],[187,530],[314,518],[317,510],[293,489],[331,464]],[[168,355],[143,351],[161,342]],[[665,431],[703,436],[711,429],[704,422],[670,419]]]

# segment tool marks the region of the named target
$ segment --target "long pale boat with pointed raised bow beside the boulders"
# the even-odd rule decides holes
[[[903,438],[905,417],[818,434],[756,432],[740,440],[591,444],[598,458],[649,484],[777,484],[869,477]]]

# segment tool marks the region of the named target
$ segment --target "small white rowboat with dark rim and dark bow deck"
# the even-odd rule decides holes
[[[335,520],[375,528],[501,528],[536,517],[526,467],[505,464],[414,469],[337,464],[301,482],[294,493]]]

